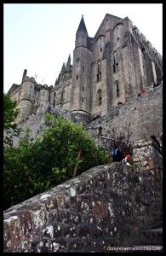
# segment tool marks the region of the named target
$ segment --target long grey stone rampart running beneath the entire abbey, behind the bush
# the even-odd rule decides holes
[[[55,108],[37,108],[37,114],[31,115],[29,119],[22,122],[19,127],[26,130],[31,128],[31,138],[40,134],[44,124],[44,113],[62,114],[66,119],[72,119],[74,122],[83,122],[85,129],[95,138],[96,142],[106,144],[106,141],[112,136],[112,128],[115,128],[117,134],[125,131],[124,125],[130,123],[132,135],[130,140],[137,142],[142,139],[148,140],[152,135],[159,137],[163,132],[163,85],[155,89],[149,88],[146,95],[139,96],[133,101],[126,102],[123,105],[114,106],[109,113],[92,121],[92,116],[83,111],[73,111],[72,113],[56,106]],[[103,136],[99,136],[99,127],[102,128]],[[20,133],[23,137],[25,131]],[[19,137],[14,137],[14,146],[18,145]]]

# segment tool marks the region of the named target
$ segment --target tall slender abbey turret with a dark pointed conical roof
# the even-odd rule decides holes
[[[90,113],[92,50],[89,49],[89,35],[83,20],[77,28],[73,52],[71,110]]]

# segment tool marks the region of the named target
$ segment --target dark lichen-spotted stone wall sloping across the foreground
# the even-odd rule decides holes
[[[109,252],[162,220],[156,172],[96,166],[4,212],[4,252]]]

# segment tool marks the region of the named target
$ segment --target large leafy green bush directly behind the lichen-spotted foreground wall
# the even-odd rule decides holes
[[[5,208],[109,162],[108,152],[95,145],[81,124],[49,113],[45,122],[48,127],[35,143],[27,131],[18,148],[4,148]]]

